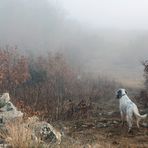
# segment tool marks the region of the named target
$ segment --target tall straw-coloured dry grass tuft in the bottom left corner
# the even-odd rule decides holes
[[[0,135],[12,148],[42,147],[41,141],[33,135],[32,130],[20,121],[8,123],[6,129]]]

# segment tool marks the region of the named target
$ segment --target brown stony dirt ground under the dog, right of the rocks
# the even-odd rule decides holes
[[[97,118],[79,119],[62,124],[65,137],[73,143],[63,147],[148,148],[148,127],[141,126],[138,129],[134,123],[132,132],[128,133],[127,125],[121,125],[118,114],[100,115]]]

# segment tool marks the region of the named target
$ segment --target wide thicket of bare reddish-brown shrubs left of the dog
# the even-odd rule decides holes
[[[108,101],[114,97],[115,88],[114,81],[93,78],[73,68],[61,53],[30,58],[17,49],[0,49],[0,90],[8,90],[17,107],[29,116],[61,120],[66,101]],[[67,113],[72,114],[72,110]],[[88,112],[88,107],[83,110]]]

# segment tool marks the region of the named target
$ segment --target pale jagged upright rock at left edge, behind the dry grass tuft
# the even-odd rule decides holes
[[[0,123],[23,117],[23,113],[11,103],[9,93],[4,93],[0,98]]]

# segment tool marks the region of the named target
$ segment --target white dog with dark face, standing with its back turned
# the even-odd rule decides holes
[[[147,114],[140,115],[137,105],[132,102],[127,96],[127,91],[125,89],[119,89],[116,94],[117,99],[119,99],[119,109],[121,114],[122,123],[124,120],[128,123],[128,132],[131,131],[133,123],[133,115],[137,120],[137,127],[139,128],[139,121],[147,117]]]

